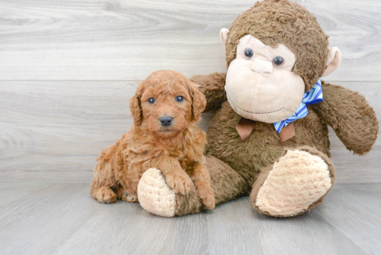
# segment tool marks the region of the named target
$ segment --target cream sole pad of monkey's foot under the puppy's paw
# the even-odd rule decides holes
[[[150,168],[143,173],[138,184],[138,199],[141,206],[158,216],[175,216],[175,191],[172,191],[161,175],[161,171]]]

